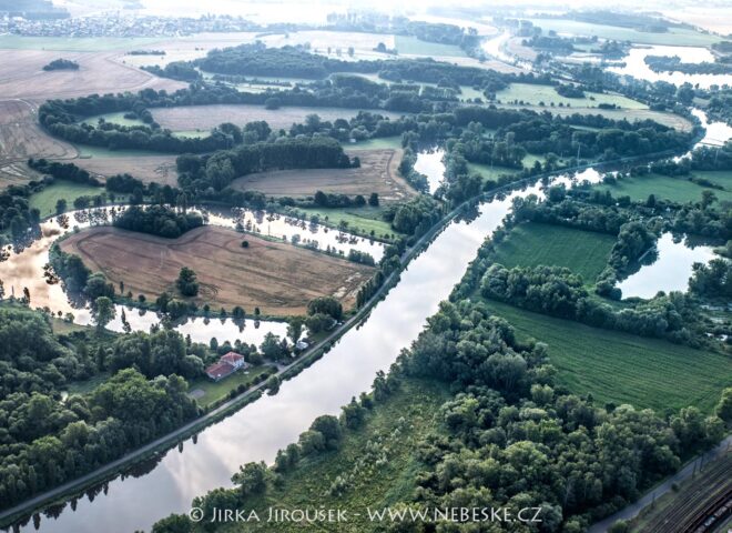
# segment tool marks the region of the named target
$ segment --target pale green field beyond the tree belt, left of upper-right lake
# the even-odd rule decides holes
[[[552,86],[537,86],[535,83],[511,83],[506,89],[498,91],[496,99],[504,103],[512,103],[518,100],[530,105],[539,105],[539,102],[543,102],[549,107],[551,102],[556,105],[561,102],[562,105],[569,104],[572,108],[597,108],[599,103],[613,103],[623,109],[648,109],[644,103],[620,94],[586,92],[584,98],[565,98]]]

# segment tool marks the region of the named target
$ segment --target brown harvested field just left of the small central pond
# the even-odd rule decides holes
[[[276,170],[244,175],[232,187],[242,191],[260,191],[273,197],[312,197],[316,191],[365,198],[378,193],[383,202],[399,202],[416,191],[398,174],[401,150],[358,150],[349,157],[360,158],[358,169]]]

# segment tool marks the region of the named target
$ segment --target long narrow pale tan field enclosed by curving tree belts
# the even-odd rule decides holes
[[[264,105],[250,104],[213,104],[185,105],[179,108],[151,109],[155,121],[172,131],[210,130],[223,122],[233,122],[237,125],[255,120],[264,120],[273,130],[289,129],[293,123],[304,122],[308,114],[317,114],[321,120],[349,119],[358,114],[357,109],[343,108],[303,108],[283,107],[279,109],[265,109]],[[374,111],[374,110],[372,110]],[[401,113],[377,111],[379,114],[397,119]]]

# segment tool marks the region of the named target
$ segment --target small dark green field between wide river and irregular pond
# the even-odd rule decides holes
[[[506,266],[566,266],[593,284],[604,269],[616,239],[561,225],[527,222],[496,247],[495,261]]]

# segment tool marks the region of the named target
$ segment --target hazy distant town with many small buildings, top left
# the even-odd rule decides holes
[[[257,24],[235,17],[169,18],[135,17],[113,12],[104,16],[39,20],[0,12],[0,33],[28,37],[177,37],[201,32],[257,31]]]

